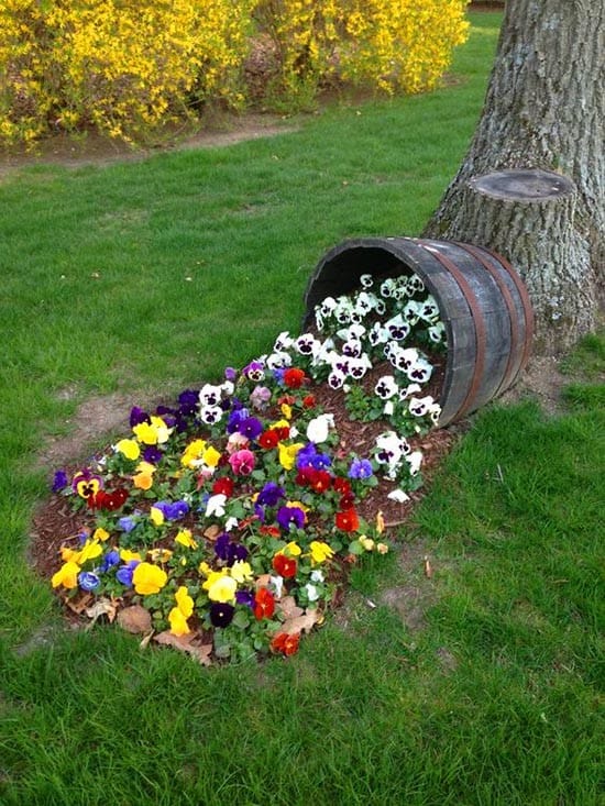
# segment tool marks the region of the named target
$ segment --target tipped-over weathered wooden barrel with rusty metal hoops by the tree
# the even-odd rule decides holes
[[[534,331],[531,305],[520,277],[501,255],[452,241],[344,241],[321,258],[309,279],[304,328],[314,323],[316,305],[359,288],[363,274],[416,274],[435,297],[448,339],[439,426],[504,393],[526,366]]]

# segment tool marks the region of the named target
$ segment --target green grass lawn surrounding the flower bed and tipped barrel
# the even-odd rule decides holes
[[[0,803],[603,803],[602,334],[568,360],[566,413],[475,418],[400,551],[288,661],[207,670],[64,629],[26,561],[38,456],[81,401],[218,378],[298,328],[328,249],[421,230],[496,44],[501,15],[471,19],[431,95],[0,181]]]

